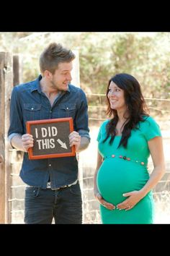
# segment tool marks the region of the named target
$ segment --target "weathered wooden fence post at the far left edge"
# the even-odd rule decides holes
[[[12,93],[12,55],[0,52],[0,223],[10,223],[9,98]]]

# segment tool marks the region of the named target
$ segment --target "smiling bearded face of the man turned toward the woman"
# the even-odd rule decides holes
[[[58,64],[58,69],[54,74],[51,74],[49,82],[51,88],[55,90],[68,90],[68,83],[71,82],[71,70],[73,69],[72,62],[63,62]]]

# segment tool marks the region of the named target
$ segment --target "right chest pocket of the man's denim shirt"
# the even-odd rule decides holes
[[[76,115],[76,104],[60,104],[58,105],[58,117],[72,117],[74,119]]]

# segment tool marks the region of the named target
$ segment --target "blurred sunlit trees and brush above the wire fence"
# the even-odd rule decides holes
[[[79,50],[81,88],[105,93],[112,75],[135,76],[145,97],[170,98],[170,33],[0,33],[0,51],[20,54],[22,81],[35,80],[50,42]]]

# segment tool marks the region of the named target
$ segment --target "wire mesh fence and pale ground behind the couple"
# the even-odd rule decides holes
[[[83,175],[82,182],[82,199],[83,199],[83,223],[101,223],[99,214],[99,203],[94,198],[94,171],[97,163],[97,134],[99,127],[107,119],[105,114],[106,102],[105,95],[87,94],[89,101],[89,128],[91,143],[89,148],[80,153],[81,168]],[[94,103],[95,101],[95,103]],[[156,202],[155,223],[170,223],[170,100],[148,99],[147,100],[153,116],[161,127],[164,138],[164,153],[166,159],[166,174],[153,189],[153,197]],[[14,150],[11,150],[11,155]],[[11,219],[12,223],[24,223],[24,187],[25,184],[19,177],[19,170],[22,164],[22,153],[17,151],[11,156],[12,164],[12,186],[11,197]],[[151,158],[149,159],[149,170],[153,168]]]

